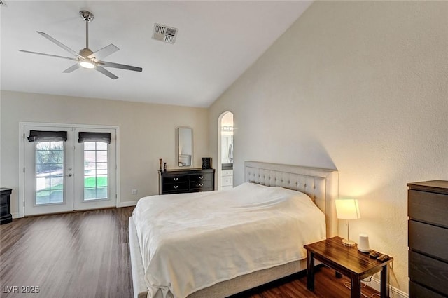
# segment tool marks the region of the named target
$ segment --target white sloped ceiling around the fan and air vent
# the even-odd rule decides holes
[[[110,100],[209,107],[307,9],[310,1],[17,1],[2,0],[1,90]],[[21,53],[30,50],[70,57],[36,33],[78,52],[85,22],[94,14],[89,48],[113,43],[104,60],[142,67],[92,69],[63,74],[70,60]],[[154,23],[179,29],[176,43],[151,39]]]

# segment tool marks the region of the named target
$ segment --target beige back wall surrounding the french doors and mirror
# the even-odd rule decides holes
[[[19,122],[73,123],[120,127],[120,205],[158,194],[159,158],[178,168],[176,127],[193,128],[193,167],[209,156],[207,109],[80,97],[1,91],[1,187],[13,192],[18,212]],[[137,195],[131,189],[138,189]]]

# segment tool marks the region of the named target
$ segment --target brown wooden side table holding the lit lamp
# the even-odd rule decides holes
[[[351,298],[361,297],[361,280],[381,271],[381,298],[387,297],[387,265],[393,261],[392,257],[385,262],[372,259],[356,245],[343,245],[340,237],[304,245],[304,248],[307,250],[308,290],[314,291],[314,259],[317,259],[351,279]]]

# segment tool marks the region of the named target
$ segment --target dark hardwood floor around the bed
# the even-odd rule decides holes
[[[132,298],[127,220],[133,209],[27,217],[1,225],[0,297]],[[349,298],[346,281],[324,267],[316,273],[315,292],[300,276],[237,297]]]

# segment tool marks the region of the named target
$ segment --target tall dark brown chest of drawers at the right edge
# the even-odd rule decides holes
[[[448,297],[448,181],[407,186],[409,297]]]

